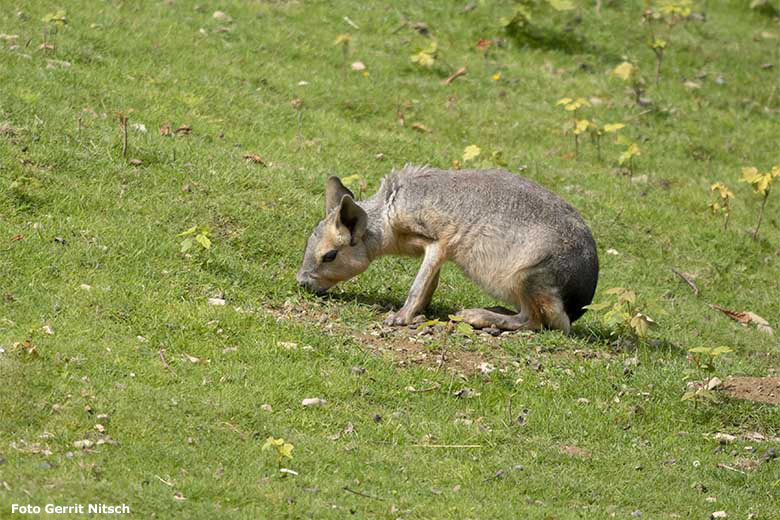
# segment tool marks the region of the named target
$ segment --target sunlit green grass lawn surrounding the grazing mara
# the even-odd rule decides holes
[[[42,21],[56,2],[3,9],[0,33],[18,38],[0,42],[0,516],[102,502],[133,518],[780,518],[777,463],[719,467],[768,445],[707,437],[777,436],[778,408],[680,401],[702,377],[689,348],[734,349],[721,377],[771,374],[780,359],[774,337],[705,304],[777,328],[780,202],[770,196],[754,241],[760,200],[736,181],[778,163],[780,27],[743,2],[697,3],[706,22],[663,30],[658,87],[638,1],[541,15],[531,39],[500,29],[504,2],[74,0],[64,25]],[[429,38],[405,20],[437,40],[432,69],[410,62]],[[490,38],[484,56],[475,45]],[[624,56],[647,75],[651,109],[609,74]],[[565,96],[595,96],[583,115],[627,124],[642,149],[633,178],[609,138],[603,160],[587,142],[571,157]],[[660,323],[654,341],[616,345],[588,313],[569,338],[453,339],[453,356],[514,361],[461,376],[399,366],[361,335],[402,303],[415,261],[382,259],[332,298],[299,293],[328,175],[358,174],[369,194],[393,166],[449,167],[471,144],[581,211],[599,244],[597,301],[634,289]],[[736,194],[726,231],[707,210],[715,181]],[[212,247],[182,255],[178,234],[195,225]],[[672,268],[696,274],[701,296]],[[220,293],[227,305],[207,303]],[[448,268],[434,303],[492,302]],[[304,307],[334,328],[284,319]],[[327,404],[303,408],[307,397]],[[74,448],[106,440],[96,424],[115,444]],[[294,444],[282,465],[298,476],[262,451],[268,436]]]

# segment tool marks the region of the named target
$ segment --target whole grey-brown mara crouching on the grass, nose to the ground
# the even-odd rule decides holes
[[[329,211],[309,237],[297,275],[301,285],[323,293],[379,256],[423,256],[404,306],[386,323],[409,323],[430,303],[447,260],[518,311],[462,311],[476,327],[568,332],[593,298],[598,258],[582,217],[554,193],[507,171],[407,165],[357,204],[332,177],[326,201]],[[328,251],[338,253],[323,262]]]

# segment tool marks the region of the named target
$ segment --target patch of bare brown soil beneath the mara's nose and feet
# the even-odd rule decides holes
[[[376,355],[388,356],[401,367],[420,365],[462,376],[508,372],[525,366],[543,369],[541,361],[534,357],[541,353],[539,348],[529,349],[527,358],[518,359],[500,347],[502,339],[533,335],[529,332],[475,330],[473,337],[467,338],[440,326],[422,330],[417,325],[388,327],[382,324],[379,314],[375,323],[359,329],[344,323],[338,316],[338,309],[306,301],[288,301],[264,310],[277,320],[313,323],[326,332],[351,336],[363,348]],[[565,354],[585,359],[609,357],[607,353],[582,350],[566,351]]]

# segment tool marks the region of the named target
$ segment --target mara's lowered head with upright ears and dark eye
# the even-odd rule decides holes
[[[366,270],[370,260],[364,241],[366,212],[339,180],[325,184],[325,218],[306,242],[298,283],[317,294]]]

